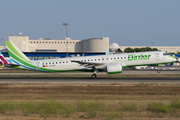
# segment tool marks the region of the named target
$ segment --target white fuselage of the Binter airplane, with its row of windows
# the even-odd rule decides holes
[[[31,61],[31,63],[37,66],[37,68],[46,68],[53,70],[79,70],[90,68],[89,66],[86,67],[77,62],[72,62],[72,60],[87,63],[104,63],[102,65],[96,66],[96,69],[104,69],[104,67],[111,63],[121,63],[122,67],[128,67],[170,63],[175,61],[176,59],[173,57],[169,57],[168,55],[164,55],[164,52],[155,51],[35,60]]]

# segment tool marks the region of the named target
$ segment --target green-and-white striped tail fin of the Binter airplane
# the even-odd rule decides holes
[[[30,60],[27,58],[19,48],[14,45],[11,41],[5,41],[9,56],[13,62],[18,62],[19,64],[29,63]]]

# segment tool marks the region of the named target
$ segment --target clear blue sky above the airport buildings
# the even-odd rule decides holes
[[[180,0],[0,0],[0,39],[109,37],[120,46],[179,46]],[[2,42],[0,41],[0,45]]]

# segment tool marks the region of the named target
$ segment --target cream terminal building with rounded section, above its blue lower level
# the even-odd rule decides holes
[[[23,52],[80,52],[95,53],[109,50],[109,37],[89,38],[85,40],[57,39],[29,39],[28,36],[9,36],[12,41]]]

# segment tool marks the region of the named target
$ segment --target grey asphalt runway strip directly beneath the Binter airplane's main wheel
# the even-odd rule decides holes
[[[180,78],[1,77],[1,84],[180,84]]]

